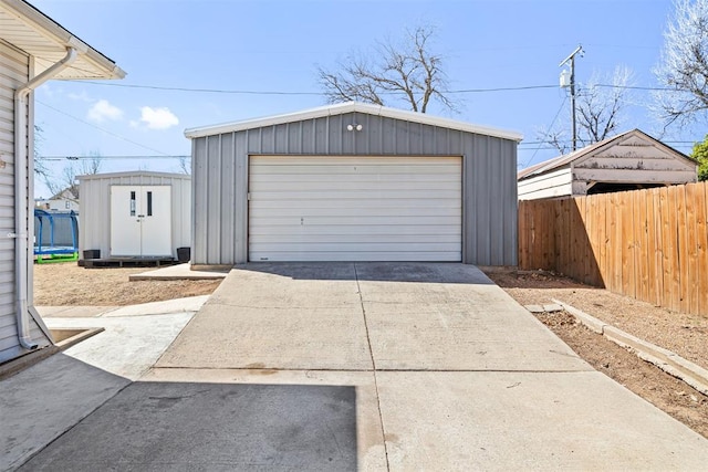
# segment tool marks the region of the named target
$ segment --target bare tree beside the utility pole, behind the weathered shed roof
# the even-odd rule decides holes
[[[577,98],[577,140],[583,146],[613,136],[622,125],[622,115],[627,104],[633,73],[617,66],[612,75],[594,73],[580,87]],[[561,154],[570,150],[569,126],[542,128],[539,140],[550,144]]]

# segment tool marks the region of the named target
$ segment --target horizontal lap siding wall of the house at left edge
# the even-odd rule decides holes
[[[0,172],[0,363],[24,353],[17,332],[14,239],[7,238],[7,234],[15,232],[14,91],[28,81],[30,67],[31,61],[27,54],[0,40],[0,158],[7,165]],[[28,114],[29,112],[28,109]],[[25,133],[31,137],[29,129],[25,129]],[[27,185],[30,188],[29,181]],[[28,224],[28,229],[31,230],[31,224]],[[30,268],[30,279],[31,274]],[[30,304],[31,297],[30,284]],[[49,345],[49,339],[31,318],[30,327],[30,335],[40,346]]]

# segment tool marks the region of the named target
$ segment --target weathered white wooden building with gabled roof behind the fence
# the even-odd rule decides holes
[[[519,200],[695,182],[695,160],[639,129],[521,170]]]

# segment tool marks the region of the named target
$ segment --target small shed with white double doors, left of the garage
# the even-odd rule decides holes
[[[80,176],[79,183],[82,256],[93,250],[101,259],[169,259],[191,244],[189,176],[95,174]]]

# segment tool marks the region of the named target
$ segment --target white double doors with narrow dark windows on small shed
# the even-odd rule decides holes
[[[171,256],[169,186],[111,187],[111,255]]]

